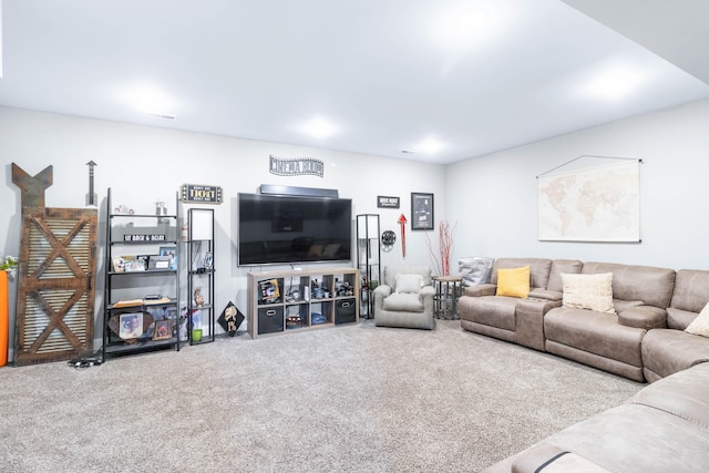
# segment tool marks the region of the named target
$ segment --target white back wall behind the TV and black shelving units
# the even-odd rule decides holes
[[[271,154],[284,158],[321,160],[325,163],[325,176],[273,175],[268,172]],[[97,164],[95,189],[101,204],[99,275],[103,270],[103,227],[107,187],[112,188],[114,206],[125,204],[136,213],[152,214],[155,202],[173,202],[182,184],[222,186],[224,203],[214,207],[217,239],[216,302],[217,306],[225,306],[232,300],[242,311],[246,311],[246,274],[249,268],[236,266],[236,196],[240,192],[257,192],[260,184],[337,188],[340,197],[352,199],[353,215],[380,214],[381,230],[391,229],[398,236],[399,215],[403,213],[409,219],[411,217],[411,192],[425,192],[435,195],[435,218],[444,218],[445,167],[404,160],[9,107],[0,107],[0,156],[6,173],[6,185],[0,186],[0,202],[3,203],[0,207],[0,254],[14,256],[19,255],[20,248],[21,213],[20,189],[12,183],[11,163],[14,162],[30,175],[53,165],[53,185],[45,193],[48,207],[84,207],[89,189],[86,163],[94,161]],[[377,208],[378,195],[399,196],[401,208]],[[408,227],[407,243],[405,259],[401,256],[401,246],[397,244],[391,253],[382,254],[382,264],[430,264],[424,233],[411,232]],[[354,264],[356,261],[352,261],[352,266]],[[257,269],[269,268],[271,267]],[[183,281],[186,285],[185,279],[183,278]],[[102,287],[103,278],[100,277],[96,282],[97,287]],[[17,288],[17,282],[13,285],[11,292]],[[185,297],[183,294],[184,300]],[[16,301],[13,297],[11,299],[10,313],[13,321]],[[102,320],[102,295],[99,294],[97,323]],[[10,330],[13,333],[13,326]],[[101,332],[96,330],[96,333],[100,336]],[[99,347],[100,343],[96,348]]]

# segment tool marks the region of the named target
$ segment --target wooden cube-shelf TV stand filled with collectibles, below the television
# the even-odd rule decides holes
[[[358,320],[356,268],[248,274],[248,332],[254,339]]]

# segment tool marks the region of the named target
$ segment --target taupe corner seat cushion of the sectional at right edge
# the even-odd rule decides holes
[[[709,339],[682,330],[654,329],[643,338],[641,352],[651,382],[709,361]]]

